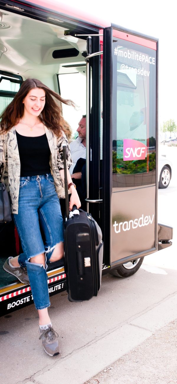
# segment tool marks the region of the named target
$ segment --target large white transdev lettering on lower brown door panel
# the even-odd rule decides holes
[[[115,223],[113,224],[113,227],[115,229],[115,233],[120,233],[121,230],[124,232],[129,231],[131,228],[136,229],[138,227],[144,227],[145,225],[152,224],[154,220],[154,215],[152,217],[142,215],[139,218],[135,218],[134,220],[129,220],[121,223]]]

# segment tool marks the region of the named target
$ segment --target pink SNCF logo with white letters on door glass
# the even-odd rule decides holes
[[[124,139],[123,141],[123,160],[144,160],[147,147],[138,140]]]

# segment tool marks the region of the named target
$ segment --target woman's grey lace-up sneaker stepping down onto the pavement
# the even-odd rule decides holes
[[[51,325],[48,325],[48,329],[45,329],[44,331],[40,329],[39,327],[39,339],[42,340],[44,351],[49,356],[56,356],[60,353],[60,348],[58,345],[58,340],[56,339],[58,337],[57,332],[54,331],[54,329],[51,327]]]

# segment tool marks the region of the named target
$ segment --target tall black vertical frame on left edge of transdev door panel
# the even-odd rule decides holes
[[[103,30],[103,241],[104,261],[111,260],[112,198],[112,29]]]

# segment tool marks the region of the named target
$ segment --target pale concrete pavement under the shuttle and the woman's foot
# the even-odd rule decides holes
[[[174,235],[176,179],[174,173],[169,188],[159,191],[159,219],[174,225]],[[33,305],[1,318],[0,382],[83,384],[143,346],[177,318],[176,248],[174,240],[172,247],[147,256],[131,278],[103,276],[102,289],[91,301],[69,303],[66,292],[53,296],[49,311],[61,356],[49,358],[43,352]]]

